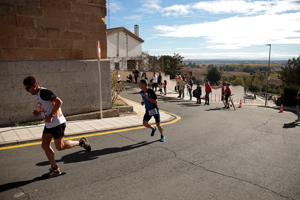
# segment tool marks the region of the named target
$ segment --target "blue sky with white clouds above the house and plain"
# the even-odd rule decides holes
[[[149,55],[288,60],[300,55],[300,1],[107,0],[107,28],[125,27]],[[271,44],[266,46],[266,44]]]

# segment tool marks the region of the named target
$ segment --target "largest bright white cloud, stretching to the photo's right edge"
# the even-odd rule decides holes
[[[158,25],[155,30],[165,37],[203,37],[208,48],[225,45],[238,49],[266,43],[300,44],[300,12],[281,15],[231,17],[215,22],[180,26]],[[221,46],[215,46],[219,48]]]

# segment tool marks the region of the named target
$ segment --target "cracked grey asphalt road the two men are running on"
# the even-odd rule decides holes
[[[137,91],[122,96],[140,101]],[[55,151],[61,176],[39,145],[0,151],[0,199],[300,199],[299,123],[295,114],[244,106],[223,110],[159,98],[181,120],[165,124],[165,142],[149,129],[88,137]]]

